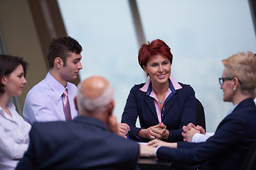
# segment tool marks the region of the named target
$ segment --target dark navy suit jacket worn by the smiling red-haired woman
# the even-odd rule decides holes
[[[129,137],[134,140],[137,139],[137,133],[142,128],[146,129],[159,124],[154,106],[154,98],[139,90],[142,86],[144,84],[132,87],[124,107],[124,113],[122,114],[122,123],[127,123],[130,126]],[[174,92],[170,94],[169,100],[164,103],[161,120],[172,133],[169,141],[181,141],[183,140],[181,135],[183,125],[196,123],[195,91],[186,84],[181,84],[182,89],[178,90],[172,89],[173,87],[171,86],[172,84],[169,88]],[[136,128],[135,126],[138,116],[141,128]]]

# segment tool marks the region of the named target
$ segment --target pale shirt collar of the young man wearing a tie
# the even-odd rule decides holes
[[[50,75],[50,72],[46,75],[46,82],[50,86],[50,88],[57,94],[57,96],[62,96],[65,89],[68,89],[69,83],[67,86],[63,86],[60,84],[52,75]]]

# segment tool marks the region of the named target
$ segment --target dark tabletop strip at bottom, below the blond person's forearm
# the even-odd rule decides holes
[[[146,158],[146,157],[139,157],[138,159],[139,169],[140,170],[164,170],[164,169],[171,169],[171,170],[194,170],[198,169],[198,165],[187,165],[182,162],[171,162],[168,160],[162,160],[157,158]]]

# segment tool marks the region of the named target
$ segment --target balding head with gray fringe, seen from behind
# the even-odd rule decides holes
[[[87,113],[102,113],[113,101],[113,89],[103,77],[89,77],[78,85],[78,110]]]

